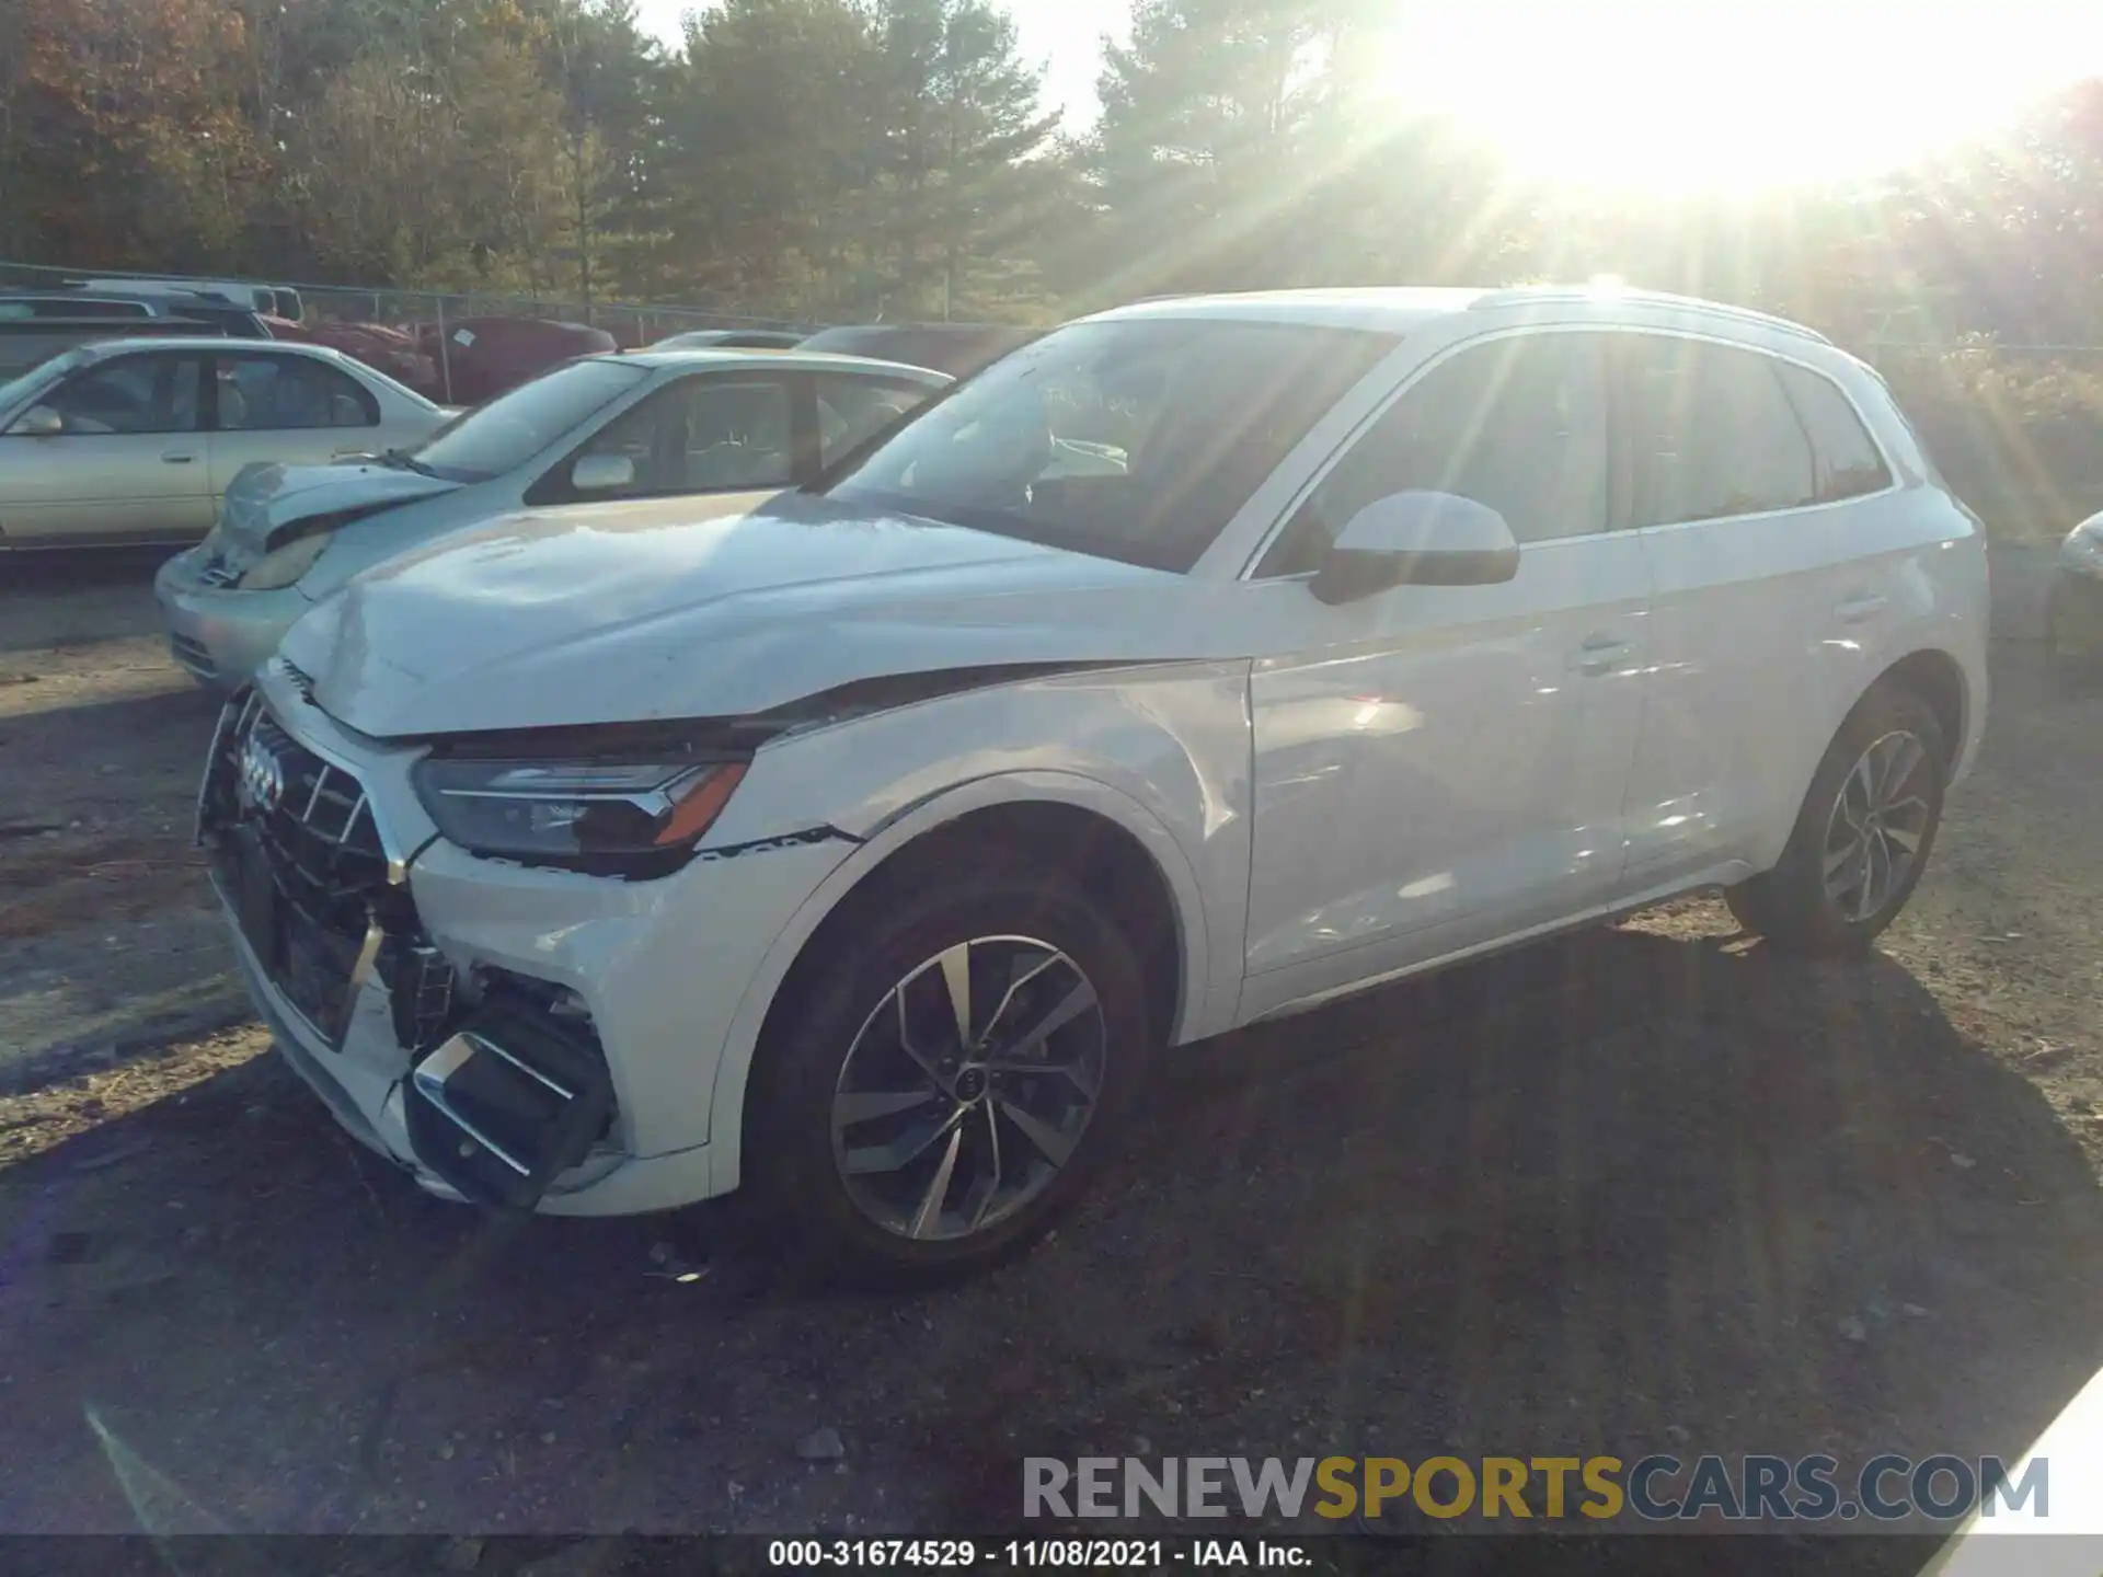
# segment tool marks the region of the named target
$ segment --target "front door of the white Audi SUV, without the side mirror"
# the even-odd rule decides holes
[[[1611,469],[1602,336],[1497,339],[1405,389],[1266,555],[1262,624],[1298,639],[1251,673],[1243,1018],[1617,896],[1649,572]],[[1316,601],[1335,532],[1411,488],[1497,509],[1516,578]]]

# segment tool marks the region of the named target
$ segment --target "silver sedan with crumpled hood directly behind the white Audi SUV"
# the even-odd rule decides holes
[[[177,660],[240,688],[315,601],[444,532],[536,505],[776,492],[948,385],[799,351],[587,355],[370,460],[271,465],[154,582]]]

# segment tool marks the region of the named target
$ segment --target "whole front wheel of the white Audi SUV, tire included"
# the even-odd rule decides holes
[[[944,854],[850,900],[761,1039],[744,1156],[801,1281],[927,1283],[1018,1253],[1087,1186],[1140,1085],[1146,976],[1119,923],[1001,845]]]

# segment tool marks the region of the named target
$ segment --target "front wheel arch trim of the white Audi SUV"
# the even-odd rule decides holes
[[[1121,788],[1073,772],[1012,772],[976,778],[932,795],[900,814],[843,860],[803,900],[768,948],[765,961],[738,1001],[709,1102],[711,1192],[730,1192],[742,1171],[744,1098],[753,1062],[776,1005],[793,990],[799,965],[818,959],[826,925],[852,913],[852,902],[877,898],[921,858],[940,858],[953,839],[1024,843],[1030,837],[1094,835],[1081,862],[1098,896],[1142,931],[1148,1016],[1165,1041],[1192,1037],[1211,982],[1203,892],[1197,871],[1169,828]],[[1140,856],[1134,860],[1134,856]],[[1108,883],[1108,885],[1104,885]],[[1167,925],[1167,934],[1159,927]]]

